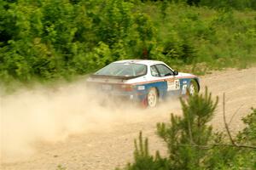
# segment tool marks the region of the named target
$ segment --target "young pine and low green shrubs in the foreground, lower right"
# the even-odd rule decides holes
[[[124,169],[255,169],[256,151],[242,147],[242,144],[255,145],[256,110],[243,121],[247,127],[237,135],[238,145],[229,144],[224,133],[213,133],[209,122],[218,104],[212,95],[195,94],[188,100],[181,99],[183,116],[171,115],[170,123],[158,123],[157,133],[164,139],[168,155],[161,157],[148,153],[148,139],[139,135],[135,142],[134,162]]]

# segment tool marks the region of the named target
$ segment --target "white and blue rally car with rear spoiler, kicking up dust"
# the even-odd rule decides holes
[[[174,71],[162,61],[125,59],[90,75],[87,82],[100,93],[155,107],[160,100],[198,93],[199,78]]]

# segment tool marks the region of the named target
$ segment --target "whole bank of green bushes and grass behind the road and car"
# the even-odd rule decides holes
[[[195,73],[207,71],[200,63],[207,69],[255,63],[255,12],[200,7],[217,0],[154,2],[0,0],[1,82],[68,79],[118,59],[194,65]]]

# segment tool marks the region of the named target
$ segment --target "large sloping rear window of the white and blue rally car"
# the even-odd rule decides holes
[[[147,66],[135,63],[112,63],[105,66],[96,75],[116,77],[138,77],[147,73]]]

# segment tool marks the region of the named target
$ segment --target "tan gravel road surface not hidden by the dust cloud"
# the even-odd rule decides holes
[[[241,71],[234,69],[215,71],[211,75],[201,77],[201,91],[204,91],[203,87],[205,86],[212,92],[213,97],[217,95],[220,97],[218,111],[216,111],[212,120],[213,127],[218,130],[224,129],[221,96],[225,93],[227,120],[233,117],[230,128],[233,133],[240,130],[243,127],[240,121],[241,117],[245,116],[252,106],[256,107],[256,67]],[[81,107],[81,105],[78,105],[78,107]],[[83,107],[90,108],[86,104]],[[5,110],[7,109],[5,108]],[[89,110],[94,111],[91,108]],[[65,137],[57,140],[33,140],[30,144],[33,150],[32,154],[18,158],[13,157],[14,159],[8,161],[5,160],[3,155],[0,169],[55,170],[58,165],[66,167],[67,170],[108,170],[114,169],[114,167],[122,167],[128,161],[132,161],[133,140],[137,138],[139,131],[143,131],[143,136],[148,137],[151,153],[160,150],[161,155],[165,155],[165,143],[155,134],[155,124],[157,122],[167,122],[171,112],[181,114],[178,102],[172,101],[160,105],[159,108],[152,111],[136,111],[136,114],[131,115],[130,110],[134,111],[130,106],[116,111],[119,112],[119,115],[125,114],[125,116],[113,114],[111,116],[116,117],[111,117],[111,119],[109,115],[104,117],[102,116],[104,113],[101,113],[93,117],[93,122],[90,120],[92,116],[86,116],[86,119],[90,122],[90,128],[81,126],[83,128],[79,131],[67,133]],[[234,115],[236,111],[237,113]],[[101,121],[95,121],[100,116],[103,117]],[[68,119],[72,119],[72,116]],[[79,117],[80,119],[83,119],[83,116]],[[106,119],[108,121],[105,121]],[[2,128],[1,132],[4,132],[6,129],[5,127]],[[50,128],[48,128],[48,132],[50,131]],[[1,136],[1,143],[4,137]],[[20,147],[21,150],[23,145],[20,145]],[[1,150],[1,153],[3,154],[3,150]]]

